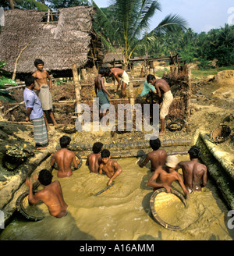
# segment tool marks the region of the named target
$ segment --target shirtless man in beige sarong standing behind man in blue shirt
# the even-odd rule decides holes
[[[41,59],[35,59],[34,66],[36,66],[37,71],[33,73],[33,76],[36,77],[37,84],[39,85],[39,87],[35,87],[35,90],[39,91],[38,97],[40,98],[42,109],[43,111],[48,111],[54,126],[58,126],[52,112],[52,98],[50,93],[52,87],[51,76],[44,70],[44,62]],[[47,84],[47,79],[49,80],[49,86]],[[44,117],[46,120],[45,114]],[[46,123],[49,130],[48,122]]]

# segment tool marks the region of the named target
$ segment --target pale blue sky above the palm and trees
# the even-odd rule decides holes
[[[107,7],[111,0],[94,0],[98,7]],[[161,12],[151,18],[150,30],[157,27],[168,14],[179,14],[194,32],[208,32],[212,28],[234,25],[233,0],[161,0]]]

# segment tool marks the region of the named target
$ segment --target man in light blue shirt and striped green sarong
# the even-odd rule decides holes
[[[26,88],[23,91],[23,99],[27,109],[26,121],[32,120],[34,124],[34,140],[37,149],[48,146],[48,133],[44,122],[44,112],[41,101],[34,92],[34,76],[25,77]]]

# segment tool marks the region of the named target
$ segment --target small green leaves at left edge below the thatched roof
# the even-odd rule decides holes
[[[13,86],[17,84],[15,80],[5,77],[9,76],[10,74],[9,72],[5,71],[5,69],[3,69],[5,65],[6,62],[0,62],[0,100],[14,102],[15,99],[11,96],[12,92],[5,91],[5,84],[12,84]]]

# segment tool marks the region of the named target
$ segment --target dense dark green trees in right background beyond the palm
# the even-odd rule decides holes
[[[149,44],[147,54],[152,57],[176,55],[186,63],[199,61],[200,69],[207,69],[212,60],[218,59],[218,66],[230,66],[234,63],[234,26],[225,24],[220,29],[212,29],[208,33],[186,31],[169,31],[157,34],[158,41]],[[137,48],[137,55],[145,55],[144,48]]]

